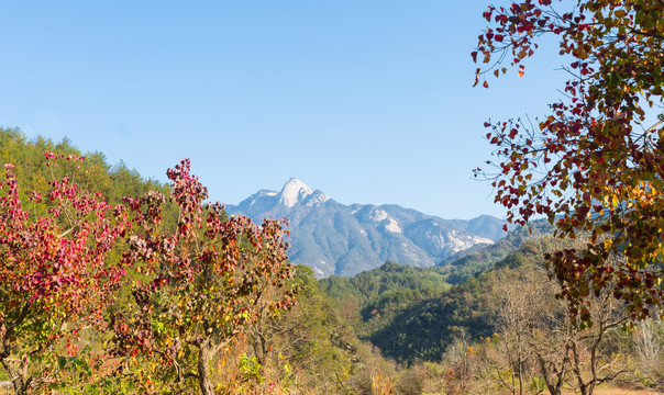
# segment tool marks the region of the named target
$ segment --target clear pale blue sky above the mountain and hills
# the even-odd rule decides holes
[[[4,1],[0,125],[237,204],[291,177],[344,203],[503,216],[472,169],[483,123],[546,113],[551,47],[489,90],[473,1]],[[494,80],[491,78],[491,80]]]

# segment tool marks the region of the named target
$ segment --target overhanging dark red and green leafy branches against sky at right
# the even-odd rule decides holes
[[[505,64],[522,77],[546,35],[557,38],[571,78],[539,124],[485,123],[498,160],[487,162],[495,172],[476,176],[493,181],[511,223],[544,215],[560,237],[589,235],[585,248],[546,257],[583,321],[591,324],[584,301],[605,287],[632,319],[662,314],[664,2],[525,0],[491,5],[484,18],[472,56],[487,66],[476,84],[488,87]]]

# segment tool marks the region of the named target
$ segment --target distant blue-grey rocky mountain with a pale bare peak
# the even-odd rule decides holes
[[[290,260],[311,267],[319,278],[354,275],[388,260],[433,267],[503,236],[503,222],[491,216],[449,221],[394,204],[347,206],[296,178],[280,192],[258,191],[226,211],[254,221],[289,218]]]

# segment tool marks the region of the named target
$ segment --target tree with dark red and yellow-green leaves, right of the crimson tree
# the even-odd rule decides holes
[[[180,207],[175,232],[164,226],[164,195],[126,199],[134,230],[122,261],[137,280],[124,308],[112,313],[112,354],[136,362],[118,373],[145,391],[198,386],[212,395],[220,351],[258,318],[295,303],[295,268],[281,222],[226,218],[222,205],[204,203],[207,189],[188,159],[167,176]]]

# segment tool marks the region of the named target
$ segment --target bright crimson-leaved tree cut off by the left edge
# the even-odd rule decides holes
[[[45,154],[52,169],[78,156]],[[52,174],[55,174],[53,171]],[[0,363],[16,394],[57,383],[56,350],[76,353],[84,326],[106,328],[124,270],[108,259],[129,227],[125,210],[70,177],[24,204],[13,165],[0,183]],[[30,207],[26,208],[25,206]]]

